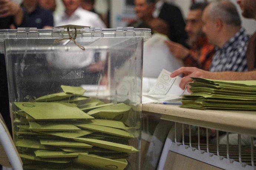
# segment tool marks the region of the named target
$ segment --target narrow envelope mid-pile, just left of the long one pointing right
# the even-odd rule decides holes
[[[82,143],[82,142],[71,142],[71,141],[62,141],[62,140],[45,140],[40,139],[42,145],[49,146],[61,146],[61,147],[82,147],[82,148],[91,148],[92,145]]]

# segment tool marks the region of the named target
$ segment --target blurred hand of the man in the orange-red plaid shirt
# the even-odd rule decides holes
[[[170,52],[179,59],[184,59],[189,54],[189,50],[181,44],[174,43],[173,41],[165,41]]]

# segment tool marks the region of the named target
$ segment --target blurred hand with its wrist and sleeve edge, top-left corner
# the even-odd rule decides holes
[[[0,18],[14,17],[14,23],[19,26],[23,20],[23,11],[19,4],[10,0],[0,0]]]

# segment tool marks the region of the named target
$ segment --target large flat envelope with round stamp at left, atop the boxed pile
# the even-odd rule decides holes
[[[14,104],[35,119],[94,119],[78,107],[54,102],[14,102]]]

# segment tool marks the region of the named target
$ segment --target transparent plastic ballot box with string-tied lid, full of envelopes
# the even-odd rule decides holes
[[[150,32],[0,30],[23,169],[139,169],[142,53]]]

